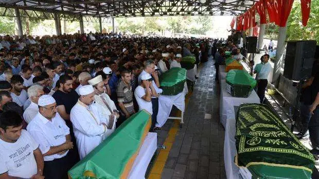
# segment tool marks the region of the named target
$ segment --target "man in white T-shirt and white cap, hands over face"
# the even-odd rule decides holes
[[[138,104],[139,110],[145,109],[150,114],[153,114],[152,97],[158,97],[153,84],[152,76],[148,73],[141,76],[142,82],[136,87],[134,96]],[[157,101],[158,103],[158,101]],[[157,109],[158,110],[158,109]],[[156,117],[152,115],[151,130],[154,129],[156,124]]]

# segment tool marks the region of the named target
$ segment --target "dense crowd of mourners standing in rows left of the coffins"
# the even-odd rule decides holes
[[[66,178],[142,109],[152,115],[151,131],[161,130],[159,76],[184,56],[206,62],[208,43],[102,33],[2,37],[0,178]]]

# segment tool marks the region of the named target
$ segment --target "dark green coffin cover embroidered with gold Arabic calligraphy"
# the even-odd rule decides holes
[[[235,138],[235,163],[253,178],[311,178],[313,155],[268,106],[240,105]]]

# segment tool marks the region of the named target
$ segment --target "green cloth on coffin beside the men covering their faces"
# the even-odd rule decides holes
[[[183,91],[186,82],[186,69],[171,68],[160,76],[163,95],[176,95]]]

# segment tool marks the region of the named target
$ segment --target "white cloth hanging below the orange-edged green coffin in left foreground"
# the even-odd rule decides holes
[[[157,148],[157,133],[149,132],[139,149],[128,178],[145,178],[145,173]]]

